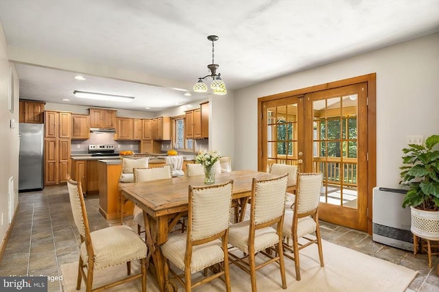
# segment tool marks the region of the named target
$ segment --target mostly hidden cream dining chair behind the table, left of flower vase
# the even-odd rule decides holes
[[[169,165],[165,165],[164,167],[153,167],[150,169],[144,167],[133,169],[134,182],[148,182],[150,180],[164,180],[167,178],[172,178],[171,167]],[[137,205],[134,205],[134,210],[132,211],[132,221],[137,223],[137,233],[141,234],[142,228],[145,230],[145,220],[143,218],[143,210]]]

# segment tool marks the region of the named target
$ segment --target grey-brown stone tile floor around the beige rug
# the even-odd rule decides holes
[[[0,263],[0,276],[50,277],[48,291],[61,291],[60,266],[78,260],[80,236],[71,215],[67,186],[49,186],[43,191],[20,193],[19,213]],[[117,224],[99,215],[99,196],[86,197],[88,219],[92,230]],[[132,225],[132,221],[126,221]],[[364,232],[321,222],[322,238],[370,256],[418,270],[418,276],[406,291],[439,291],[439,276],[427,266],[427,256],[414,258],[411,252],[372,241]]]

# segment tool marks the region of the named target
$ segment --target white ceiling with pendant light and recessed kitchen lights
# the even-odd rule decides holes
[[[206,99],[192,86],[208,74],[210,34],[236,90],[438,32],[439,1],[0,0],[0,21],[21,98],[158,111]],[[73,90],[136,99],[85,103]]]

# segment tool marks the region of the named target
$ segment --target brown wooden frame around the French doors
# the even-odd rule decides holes
[[[307,93],[315,93],[320,90],[333,89],[341,86],[348,86],[352,84],[367,83],[368,97],[367,97],[367,135],[368,135],[368,182],[367,182],[367,231],[372,234],[372,189],[377,185],[377,73],[370,73],[357,77],[351,77],[345,80],[337,80],[335,82],[328,82],[306,88],[287,91],[285,93],[277,93],[275,95],[268,95],[258,98],[258,170],[263,170],[262,161],[262,132],[263,132],[263,103],[272,101],[274,99],[283,99],[285,97],[294,97],[298,95],[305,95]]]

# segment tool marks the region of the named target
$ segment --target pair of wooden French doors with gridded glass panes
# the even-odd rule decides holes
[[[367,82],[259,103],[259,170],[323,173],[319,218],[368,230]],[[374,139],[375,141],[375,139]]]

